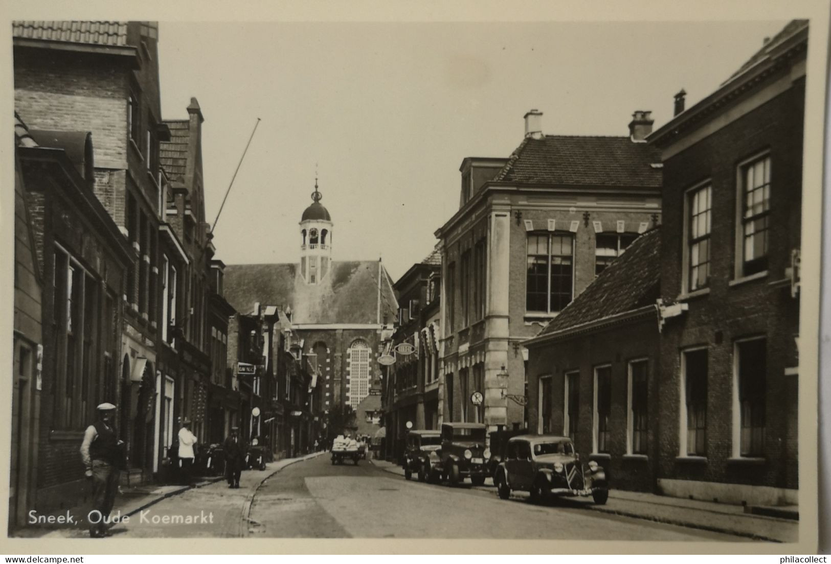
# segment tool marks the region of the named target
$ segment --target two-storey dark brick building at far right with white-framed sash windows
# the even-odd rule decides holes
[[[650,137],[664,163],[658,487],[796,503],[808,22]],[[666,423],[664,423],[666,422]]]

